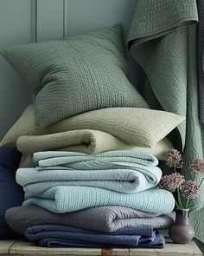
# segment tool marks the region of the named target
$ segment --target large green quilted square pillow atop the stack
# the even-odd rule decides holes
[[[148,108],[127,79],[121,25],[3,49],[35,92],[35,128],[98,108]]]

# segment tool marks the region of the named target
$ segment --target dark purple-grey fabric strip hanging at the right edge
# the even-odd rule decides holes
[[[203,71],[203,51],[204,51],[204,1],[198,0],[198,81],[199,81],[199,107],[200,121],[204,123],[204,71]]]

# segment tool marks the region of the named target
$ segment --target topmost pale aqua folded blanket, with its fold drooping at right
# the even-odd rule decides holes
[[[55,170],[73,169],[90,171],[115,169],[121,170],[121,172],[125,169],[130,169],[131,171],[135,170],[143,174],[145,178],[150,181],[151,187],[152,183],[155,186],[162,177],[161,169],[156,167],[158,164],[156,157],[151,154],[145,154],[137,151],[116,150],[99,154],[47,151],[35,153],[34,161],[39,165],[37,168],[38,170],[50,170],[50,167]],[[121,181],[123,181],[123,179]]]

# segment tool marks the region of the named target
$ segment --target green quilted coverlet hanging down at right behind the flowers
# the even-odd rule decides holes
[[[196,0],[139,0],[127,39],[131,55],[147,75],[144,97],[151,108],[186,115],[179,126],[185,166],[191,178],[193,159],[203,159],[204,126],[198,117],[196,69]],[[204,186],[194,200],[191,221],[204,242]]]

